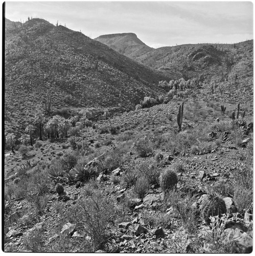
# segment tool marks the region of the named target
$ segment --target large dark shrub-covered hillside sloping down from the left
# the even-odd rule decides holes
[[[6,19],[5,28],[5,110],[12,120],[22,117],[21,126],[48,101],[52,111],[130,110],[145,96],[162,94],[155,84],[169,79],[99,41],[43,19],[24,24]]]

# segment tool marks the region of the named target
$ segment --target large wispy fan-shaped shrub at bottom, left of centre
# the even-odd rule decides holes
[[[91,237],[92,251],[104,248],[108,229],[114,224],[118,215],[113,199],[100,191],[79,201],[72,209],[72,216],[79,231]]]

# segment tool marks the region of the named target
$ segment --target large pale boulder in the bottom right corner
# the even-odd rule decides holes
[[[235,242],[237,244],[235,248],[238,250],[238,253],[250,253],[252,251],[252,238],[248,236],[246,232],[240,230],[239,228],[227,228],[224,231],[225,239],[223,241]]]

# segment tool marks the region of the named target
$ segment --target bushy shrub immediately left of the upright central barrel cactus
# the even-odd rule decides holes
[[[160,168],[154,161],[146,161],[136,166],[136,173],[146,177],[150,184],[159,184]]]

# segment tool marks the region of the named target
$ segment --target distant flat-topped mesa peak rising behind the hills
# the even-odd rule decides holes
[[[155,50],[147,46],[134,33],[101,35],[95,38],[95,40],[133,59]]]

